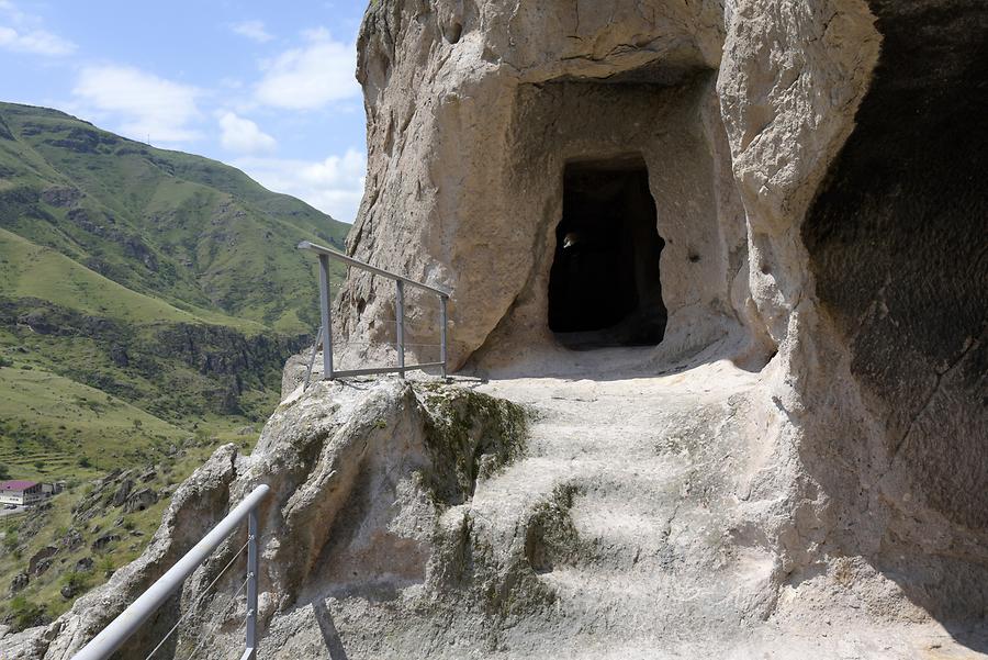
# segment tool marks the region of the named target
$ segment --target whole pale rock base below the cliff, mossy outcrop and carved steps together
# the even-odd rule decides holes
[[[800,572],[796,540],[820,523],[794,488],[799,466],[779,468],[794,460],[786,436],[764,433],[784,424],[764,412],[771,380],[706,354],[610,381],[296,391],[250,457],[225,447],[176,492],[141,559],[0,652],[69,658],[258,483],[273,491],[260,511],[268,658],[965,652],[858,557],[816,553]],[[124,657],[144,657],[179,613],[166,657],[238,647],[243,557],[205,586],[243,544],[234,535]]]

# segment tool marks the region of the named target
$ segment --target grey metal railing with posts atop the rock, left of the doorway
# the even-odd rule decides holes
[[[319,327],[319,332],[316,334],[315,344],[312,347],[312,357],[308,360],[308,369],[305,372],[305,383],[303,384],[303,389],[308,388],[310,379],[312,378],[312,368],[315,365],[315,356],[316,351],[319,347],[319,342],[323,343],[323,380],[333,380],[334,378],[340,378],[344,376],[369,376],[373,373],[398,373],[402,378],[405,378],[405,371],[411,369],[427,369],[430,367],[439,367],[442,369],[442,378],[445,379],[447,376],[447,325],[448,325],[448,314],[447,314],[447,304],[449,302],[449,291],[444,289],[439,289],[438,287],[431,287],[429,284],[425,284],[423,282],[418,282],[411,278],[406,278],[404,276],[397,275],[395,272],[391,272],[389,270],[384,270],[383,268],[378,268],[377,266],[371,266],[370,264],[366,264],[360,261],[359,259],[355,259],[353,257],[348,257],[344,254],[340,254],[336,250],[329,249],[328,247],[324,247],[322,245],[316,245],[315,243],[311,243],[308,240],[303,240],[299,244],[299,249],[307,249],[314,251],[318,255],[319,258],[319,320],[322,322],[322,326]],[[395,323],[397,326],[397,354],[398,354],[398,363],[396,367],[374,367],[368,369],[347,369],[344,371],[334,370],[333,369],[333,317],[332,310],[329,306],[329,259],[336,259],[337,261],[343,261],[348,266],[352,266],[355,268],[360,268],[362,270],[367,270],[368,272],[372,272],[374,275],[379,275],[384,278],[389,278],[394,280],[395,283],[395,299],[394,299],[394,315]],[[416,287],[424,291],[428,291],[429,293],[434,293],[439,298],[439,361],[438,362],[422,362],[418,365],[405,365],[405,284],[409,287]]]

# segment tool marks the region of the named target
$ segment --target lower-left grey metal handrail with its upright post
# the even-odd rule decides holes
[[[181,586],[200,564],[205,561],[244,519],[247,519],[247,630],[246,650],[242,660],[252,660],[257,655],[257,571],[258,527],[257,508],[271,489],[259,485],[244,497],[233,511],[206,534],[202,540],[158,578],[136,601],[92,638],[72,660],[106,660],[147,622],[155,612]]]

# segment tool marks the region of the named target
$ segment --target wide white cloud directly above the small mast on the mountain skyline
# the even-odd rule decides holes
[[[121,121],[117,130],[136,139],[189,142],[199,134],[189,124],[200,116],[194,87],[124,66],[90,66],[72,90],[83,108]]]

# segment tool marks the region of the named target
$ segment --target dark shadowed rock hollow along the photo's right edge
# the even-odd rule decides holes
[[[917,603],[988,612],[988,8],[874,2],[882,58],[856,127],[804,223],[819,307],[862,416],[826,439],[854,466],[812,469],[834,500],[849,553]],[[917,38],[922,25],[922,38]],[[936,63],[930,67],[929,63]],[[849,380],[850,380],[849,379]],[[865,416],[866,415],[866,416]]]

